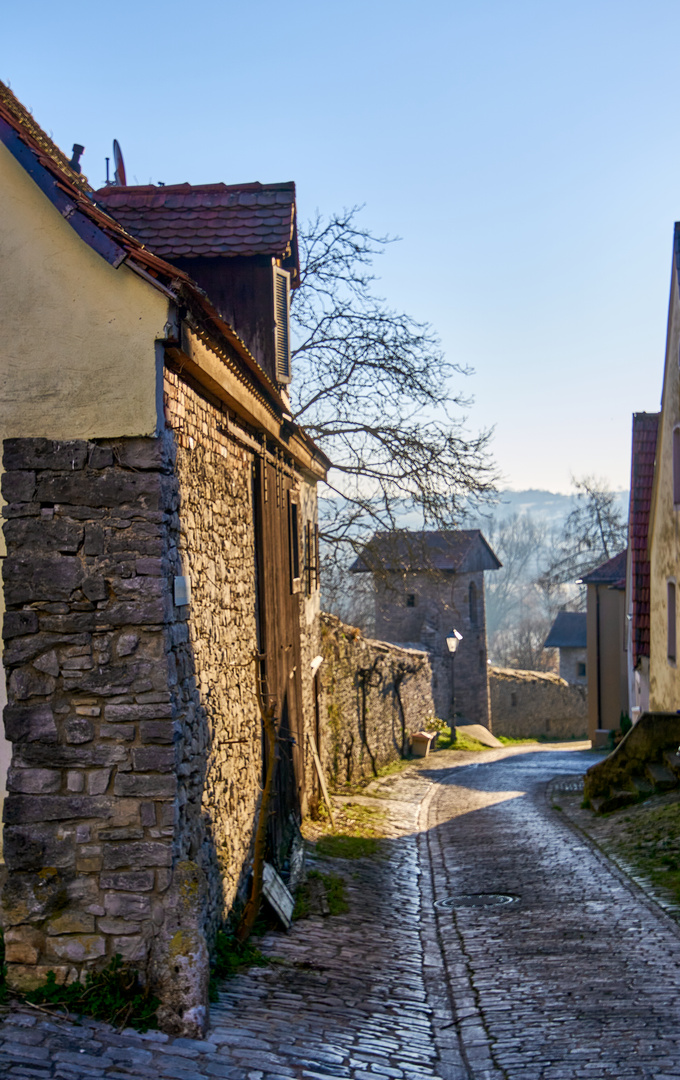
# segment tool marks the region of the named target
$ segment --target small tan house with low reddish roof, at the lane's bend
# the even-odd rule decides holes
[[[626,562],[620,552],[583,578],[587,595],[588,738],[628,713]]]

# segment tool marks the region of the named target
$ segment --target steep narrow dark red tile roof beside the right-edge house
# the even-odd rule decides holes
[[[633,454],[630,468],[630,546],[633,600],[633,664],[650,654],[650,561],[648,534],[654,483],[654,459],[658,432],[658,413],[633,416]]]

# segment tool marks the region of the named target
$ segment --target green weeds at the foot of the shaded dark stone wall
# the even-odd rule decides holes
[[[148,987],[141,986],[137,972],[114,956],[106,968],[89,972],[85,982],[58,985],[53,971],[35,990],[24,995],[35,1005],[59,1007],[82,1016],[94,1016],[115,1027],[134,1027],[148,1031],[157,1027],[155,1010],[160,1005]]]

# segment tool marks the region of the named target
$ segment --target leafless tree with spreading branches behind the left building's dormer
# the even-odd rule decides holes
[[[467,432],[470,402],[451,389],[467,369],[376,295],[373,260],[392,238],[364,228],[359,208],[301,229],[291,307],[294,417],[332,461],[322,540],[345,568],[377,530],[454,527],[495,480],[490,433]]]

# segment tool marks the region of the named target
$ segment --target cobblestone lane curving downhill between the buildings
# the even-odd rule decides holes
[[[384,858],[329,864],[350,912],[268,934],[277,961],[223,984],[206,1041],[12,1010],[0,1077],[680,1080],[678,929],[545,801],[591,761],[515,747],[391,778]],[[473,893],[517,900],[434,906]]]

